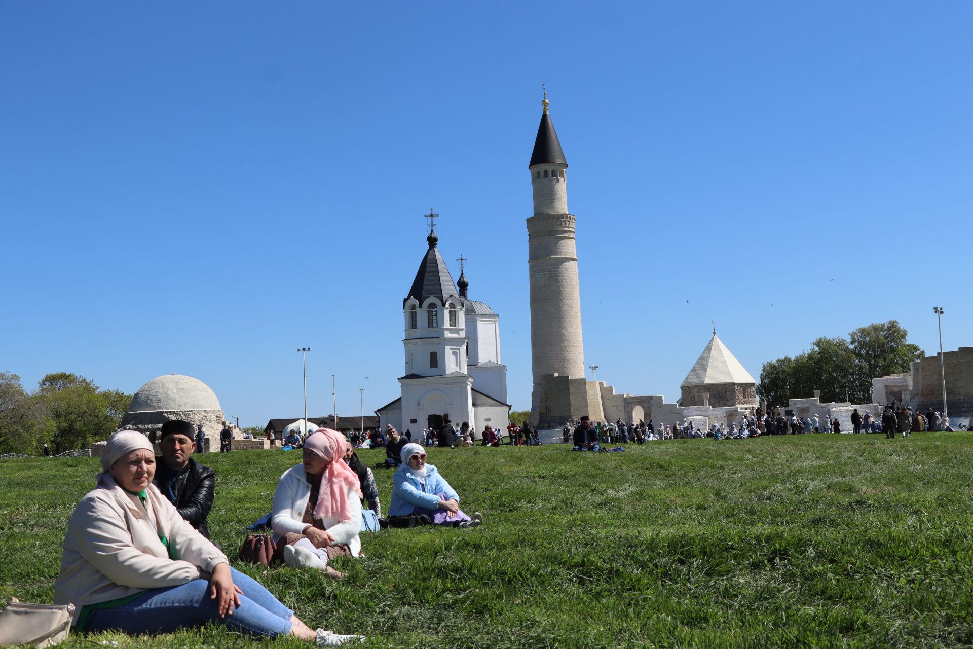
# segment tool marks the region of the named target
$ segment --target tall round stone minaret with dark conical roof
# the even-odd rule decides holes
[[[567,161],[551,123],[546,92],[541,105],[544,113],[528,165],[534,194],[534,215],[527,219],[533,368],[530,419],[535,425],[560,425],[555,417],[587,415],[587,405],[578,403],[579,399],[571,399],[570,394],[548,394],[555,389],[554,385],[542,378],[558,374],[559,377],[584,380],[585,357],[581,341],[574,216],[567,212]],[[558,392],[570,391],[564,381],[561,383]],[[584,394],[586,390],[581,392]]]

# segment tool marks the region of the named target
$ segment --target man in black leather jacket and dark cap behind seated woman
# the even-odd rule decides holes
[[[216,474],[191,457],[194,448],[193,424],[182,419],[163,423],[159,448],[162,456],[156,458],[156,478],[153,483],[188,523],[209,538],[206,517],[213,506]]]

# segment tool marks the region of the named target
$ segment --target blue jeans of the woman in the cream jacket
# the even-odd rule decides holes
[[[218,599],[209,598],[209,581],[197,579],[182,586],[146,591],[117,608],[93,610],[84,631],[117,629],[129,634],[170,633],[183,627],[201,627],[207,622],[225,625],[231,631],[250,635],[287,635],[291,616],[270,591],[242,572],[230,568],[234,584],[243,591],[234,614],[221,618]],[[80,631],[80,630],[79,630]]]

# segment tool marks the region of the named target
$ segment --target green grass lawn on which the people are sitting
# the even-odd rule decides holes
[[[362,451],[374,465],[383,451]],[[625,453],[430,450],[471,530],[363,534],[348,578],[234,566],[311,626],[396,647],[973,645],[973,436],[677,440]],[[293,452],[207,454],[235,550]],[[51,601],[90,459],[0,460],[0,595]],[[382,506],[391,472],[376,471]],[[207,628],[130,647],[243,646]],[[297,646],[288,640],[267,642]]]

